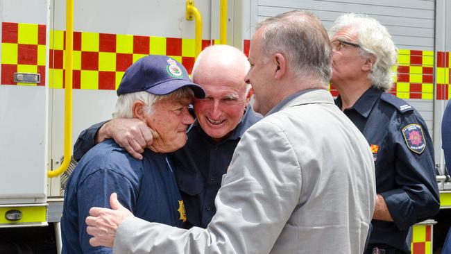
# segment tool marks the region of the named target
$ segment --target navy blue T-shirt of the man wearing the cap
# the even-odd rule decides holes
[[[90,208],[110,208],[110,195],[136,217],[182,227],[185,208],[166,155],[146,149],[136,160],[112,139],[90,149],[69,178],[61,219],[62,253],[112,253],[90,246],[85,219]]]

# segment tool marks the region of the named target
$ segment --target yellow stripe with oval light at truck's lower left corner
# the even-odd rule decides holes
[[[8,221],[5,218],[6,212],[9,210],[19,210],[22,212],[22,219],[19,221]],[[0,208],[0,223],[31,223],[31,222],[46,222],[47,208],[45,206],[31,206],[19,208]]]

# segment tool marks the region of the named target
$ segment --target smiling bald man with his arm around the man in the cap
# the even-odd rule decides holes
[[[187,144],[170,155],[180,194],[185,201],[185,226],[206,228],[216,213],[214,198],[244,132],[261,117],[249,105],[253,90],[244,77],[249,63],[244,53],[227,45],[214,45],[198,56],[194,83],[206,92],[194,99],[196,121]],[[134,119],[112,119],[83,131],[74,146],[79,160],[96,142],[113,138],[135,158],[152,144],[152,130]]]

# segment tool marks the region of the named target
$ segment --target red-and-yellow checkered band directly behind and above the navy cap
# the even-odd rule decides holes
[[[65,80],[65,32],[51,31],[50,87],[62,88]],[[203,47],[210,40],[203,41]],[[187,68],[194,65],[194,39],[110,33],[74,32],[73,84],[76,89],[116,90],[126,69],[139,58],[171,56]]]

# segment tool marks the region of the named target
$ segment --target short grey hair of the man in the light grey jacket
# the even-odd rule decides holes
[[[319,78],[327,85],[332,75],[330,40],[318,17],[311,12],[292,10],[259,22],[262,53],[282,53],[298,78]]]

